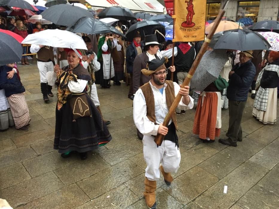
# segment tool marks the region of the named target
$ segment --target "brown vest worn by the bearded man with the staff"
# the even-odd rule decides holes
[[[173,101],[175,99],[175,93],[174,93],[174,84],[172,81],[166,81],[167,87],[165,88],[166,91],[166,100],[167,100],[167,107],[170,110],[171,105],[173,104]],[[156,124],[156,116],[155,116],[155,100],[154,100],[154,95],[152,88],[148,83],[144,84],[143,86],[140,87],[142,90],[142,93],[144,94],[145,102],[146,102],[146,107],[147,107],[147,118],[154,122]],[[176,115],[173,114],[171,117],[175,128],[177,130],[177,120],[176,120]]]

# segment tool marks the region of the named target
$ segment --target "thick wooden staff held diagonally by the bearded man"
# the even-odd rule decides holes
[[[199,65],[199,62],[201,61],[202,56],[204,55],[205,51],[207,50],[208,44],[210,43],[211,38],[214,35],[214,33],[215,33],[215,31],[216,31],[216,29],[217,29],[217,27],[219,25],[219,22],[221,21],[221,19],[222,19],[224,14],[225,14],[225,10],[221,9],[219,11],[219,14],[218,14],[216,20],[214,21],[215,22],[214,26],[212,27],[212,29],[211,29],[210,33],[208,34],[207,38],[205,39],[205,42],[202,44],[202,48],[200,49],[200,51],[199,51],[199,53],[198,53],[198,55],[197,55],[193,65],[192,65],[192,67],[191,67],[191,69],[190,69],[186,79],[182,83],[181,88],[184,88],[185,86],[189,85],[190,80],[193,77],[193,74],[195,73],[196,68]],[[174,114],[174,112],[176,110],[176,107],[179,104],[181,98],[182,98],[182,95],[178,94],[176,96],[176,98],[174,99],[173,104],[171,105],[170,110],[169,110],[169,112],[167,113],[167,116],[164,119],[163,126],[165,126],[165,127],[168,126],[168,124],[170,122],[170,119],[171,119],[171,116]],[[164,136],[161,135],[161,134],[157,134],[157,136],[154,139],[154,141],[157,144],[157,146],[161,146],[163,140],[164,140]]]

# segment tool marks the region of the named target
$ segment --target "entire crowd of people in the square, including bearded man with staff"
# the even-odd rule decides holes
[[[23,38],[43,30],[39,22],[32,25],[27,19],[14,17],[9,17],[6,24],[1,21],[0,27]],[[121,27],[115,28],[123,33]],[[228,61],[221,66],[219,77],[202,92],[191,92],[190,84],[183,88],[181,84],[203,42],[173,43],[168,40],[162,44],[158,42],[157,34],[142,37],[137,30],[131,43],[116,34],[100,34],[96,43],[93,41],[96,36],[92,39],[86,34],[78,35],[86,43],[87,50],[60,48],[56,51],[51,46],[36,44],[30,47],[30,52],[36,53],[42,98],[46,103],[54,96],[52,88],[57,87],[54,149],[63,158],[78,152],[84,160],[88,151],[108,143],[112,139],[107,128],[110,121],[102,116],[96,84],[111,88],[111,81],[116,86],[126,82],[129,85],[128,98],[133,100],[138,138],[144,144],[147,163],[144,196],[149,208],[156,208],[156,180],[160,178],[160,172],[165,183],[170,185],[173,181],[171,172],[179,168],[181,156],[176,115],[187,114],[186,111],[196,105],[193,133],[202,142],[212,143],[220,136],[222,108],[228,108],[227,138],[219,139],[219,142],[236,147],[243,140],[241,122],[251,90],[254,118],[264,124],[276,122],[278,51],[228,49]],[[208,47],[208,51],[212,50]],[[55,64],[55,60],[59,60],[59,64]],[[21,64],[29,64],[26,56],[22,56]],[[170,81],[171,74],[173,81]],[[1,66],[0,130],[15,126],[18,130],[28,131],[31,118],[24,92],[16,64]],[[178,94],[182,99],[176,114],[167,126],[163,126]],[[164,136],[160,146],[154,142],[157,134]]]

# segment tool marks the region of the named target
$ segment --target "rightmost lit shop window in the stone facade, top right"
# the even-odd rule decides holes
[[[237,21],[241,18],[250,18],[251,21],[247,21],[247,25],[257,22],[259,7],[260,1],[239,1],[237,8]]]

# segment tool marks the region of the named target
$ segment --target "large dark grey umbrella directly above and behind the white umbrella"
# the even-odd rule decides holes
[[[49,7],[41,13],[42,18],[57,25],[73,25],[82,17],[94,17],[89,11],[68,4],[58,4]]]

